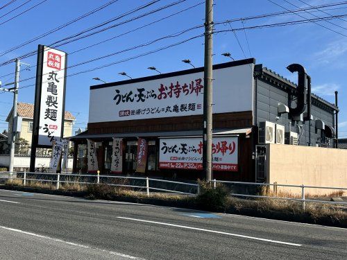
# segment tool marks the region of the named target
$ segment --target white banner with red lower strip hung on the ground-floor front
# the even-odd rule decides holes
[[[201,137],[160,139],[159,168],[203,169]],[[238,171],[238,137],[213,137],[214,171]]]

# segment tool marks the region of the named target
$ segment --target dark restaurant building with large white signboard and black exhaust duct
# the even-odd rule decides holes
[[[213,77],[214,178],[260,180],[262,144],[334,146],[338,108],[310,94],[306,74],[296,85],[251,58]],[[203,67],[94,85],[87,131],[71,137],[74,172],[203,178],[202,130]]]

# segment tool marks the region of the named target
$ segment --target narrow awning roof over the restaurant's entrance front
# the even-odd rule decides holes
[[[215,129],[212,135],[249,135],[252,128],[232,128],[232,129]],[[167,131],[167,132],[125,132],[125,133],[111,133],[111,134],[89,134],[87,131],[68,137],[71,141],[78,139],[103,139],[103,138],[127,138],[127,137],[191,137],[203,135],[203,130],[188,130],[188,131]]]

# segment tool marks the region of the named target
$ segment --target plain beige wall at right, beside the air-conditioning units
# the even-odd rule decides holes
[[[281,144],[270,144],[268,149],[268,183],[347,188],[347,150]],[[301,192],[298,188],[286,190]],[[328,194],[331,191],[307,189],[305,193]]]

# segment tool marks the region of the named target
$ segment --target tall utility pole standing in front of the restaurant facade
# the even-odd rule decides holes
[[[213,0],[205,0],[205,64],[203,73],[203,171],[212,180],[212,43]]]

